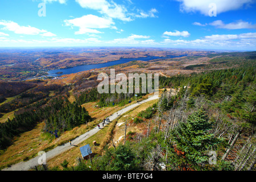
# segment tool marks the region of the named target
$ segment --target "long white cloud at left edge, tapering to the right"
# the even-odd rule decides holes
[[[4,26],[2,30],[13,31],[15,34],[24,34],[24,35],[39,35],[45,34],[43,36],[53,36],[51,32],[47,32],[46,30],[40,30],[31,26],[20,26],[18,23],[6,20],[0,20],[0,26]]]

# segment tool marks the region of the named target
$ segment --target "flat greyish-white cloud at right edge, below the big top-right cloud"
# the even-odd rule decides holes
[[[209,24],[217,28],[225,28],[225,29],[231,29],[231,30],[243,29],[243,28],[256,28],[256,24],[251,24],[249,22],[244,22],[242,20],[229,23],[229,24],[225,24],[224,22],[222,22],[222,20],[216,20]]]

